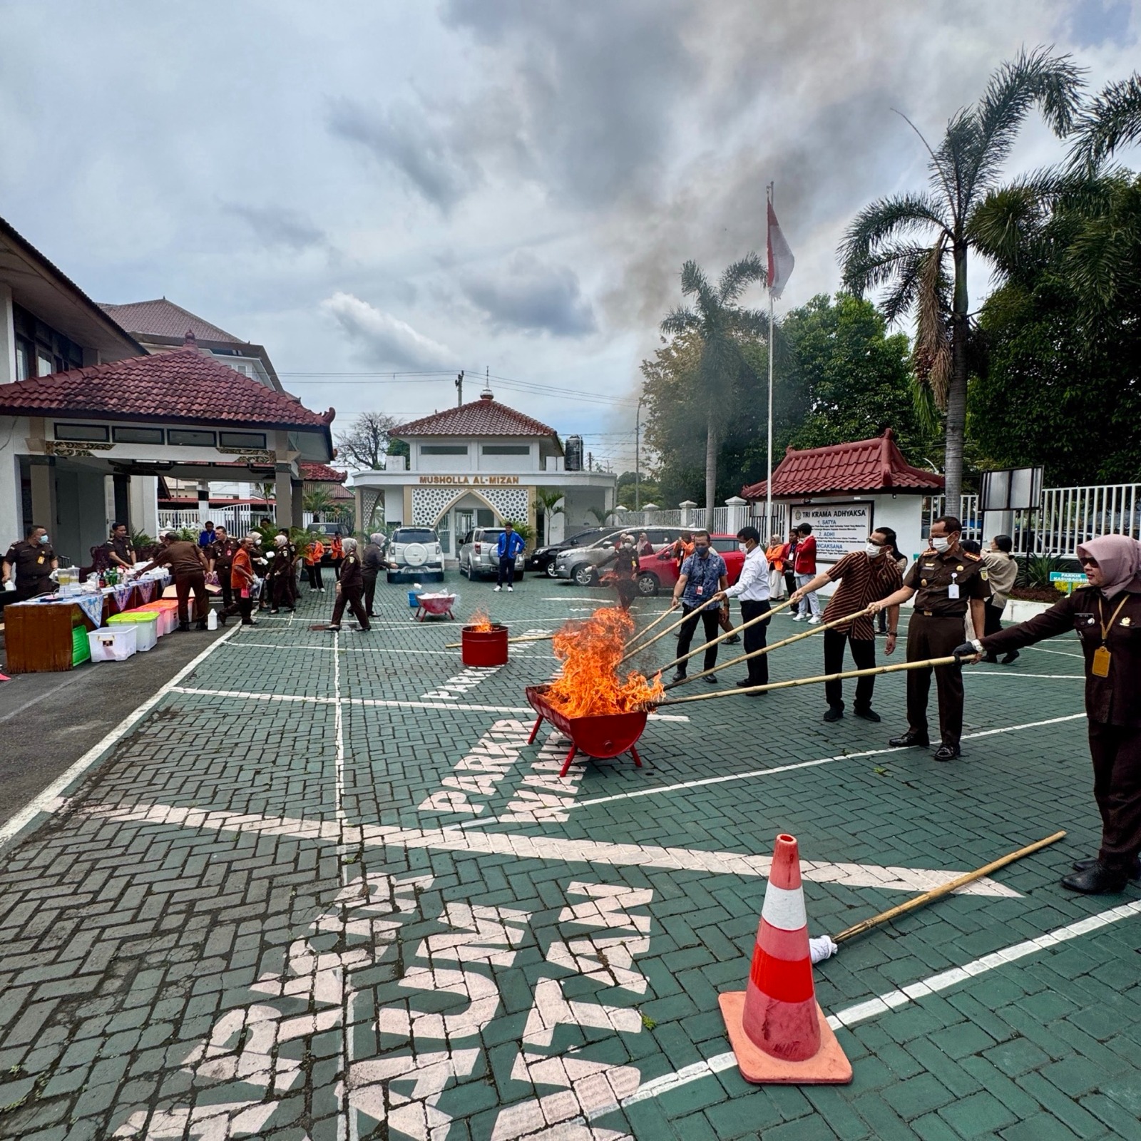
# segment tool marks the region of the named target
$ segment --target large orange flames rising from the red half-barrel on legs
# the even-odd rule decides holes
[[[633,618],[625,610],[601,607],[585,621],[568,622],[555,636],[555,656],[563,662],[563,677],[547,691],[547,699],[566,717],[628,713],[657,701],[662,682],[655,675],[631,671],[626,680],[617,667],[633,633]]]

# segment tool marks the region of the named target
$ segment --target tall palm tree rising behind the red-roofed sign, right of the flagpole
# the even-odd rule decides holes
[[[923,140],[931,189],[865,207],[840,246],[845,288],[863,294],[889,286],[883,300],[889,322],[915,311],[916,377],[946,414],[948,510],[957,508],[963,491],[970,339],[966,264],[978,248],[976,213],[998,188],[1003,163],[1033,107],[1055,135],[1069,133],[1079,110],[1081,75],[1069,56],[1055,57],[1044,48],[1004,63],[978,104],[950,119],[937,149]]]

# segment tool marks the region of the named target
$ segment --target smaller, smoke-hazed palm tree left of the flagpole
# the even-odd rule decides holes
[[[681,267],[681,296],[694,298],[694,306],[680,306],[662,322],[662,332],[671,335],[696,332],[701,339],[697,364],[697,390],[705,415],[705,509],[717,505],[718,435],[728,406],[729,386],[748,364],[742,353],[744,338],[760,337],[767,317],[758,309],[742,309],[737,299],[753,282],[763,281],[764,266],[753,252],[728,266],[717,288],[710,284],[696,261]],[[709,515],[712,519],[712,515]]]

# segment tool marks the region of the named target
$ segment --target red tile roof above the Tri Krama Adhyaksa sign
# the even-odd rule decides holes
[[[743,487],[745,499],[766,496],[766,483]],[[942,476],[913,468],[896,444],[889,428],[882,436],[851,444],[788,448],[772,472],[774,495],[826,495],[831,492],[877,492],[887,488],[939,491]]]

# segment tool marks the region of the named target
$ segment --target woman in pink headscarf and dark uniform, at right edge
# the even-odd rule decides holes
[[[1122,891],[1141,876],[1141,543],[1102,535],[1077,549],[1087,586],[1044,614],[964,642],[956,656],[1010,653],[1073,630],[1085,658],[1093,795],[1101,811],[1101,849],[1062,880],[1071,891]]]

